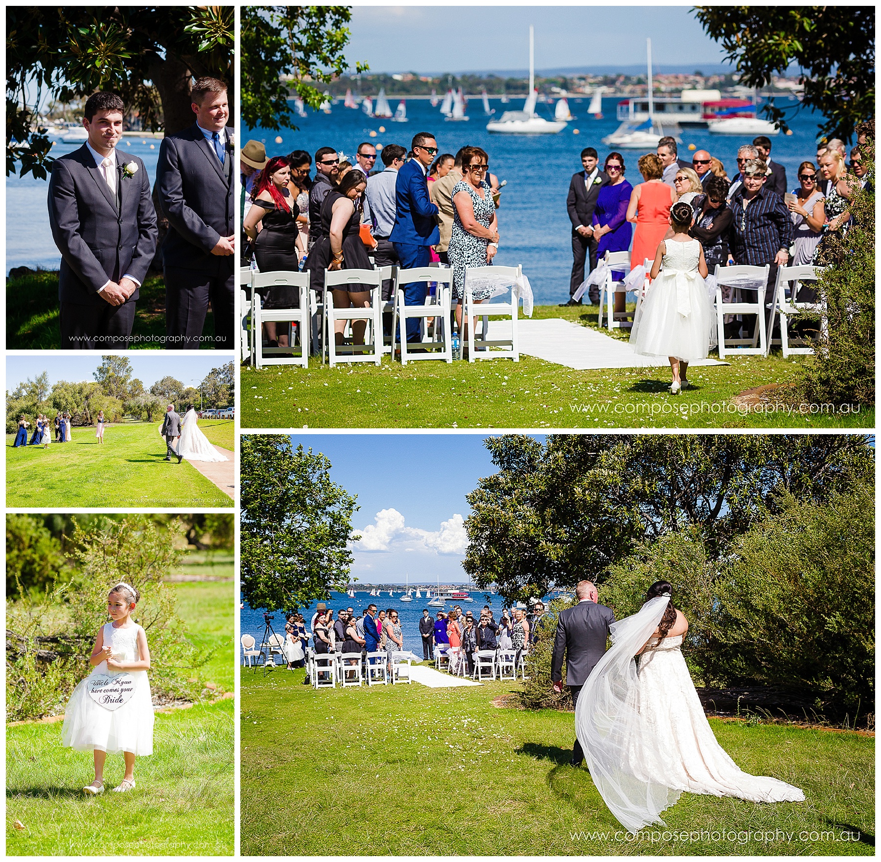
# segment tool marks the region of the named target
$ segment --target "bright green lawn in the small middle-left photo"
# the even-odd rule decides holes
[[[211,435],[226,439],[227,428]],[[73,429],[70,444],[19,446],[7,434],[6,505],[36,508],[93,506],[227,508],[229,497],[184,460],[164,461],[158,423],[111,425],[104,445],[93,428]]]

